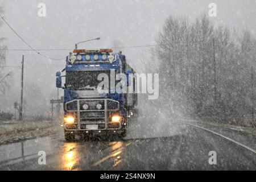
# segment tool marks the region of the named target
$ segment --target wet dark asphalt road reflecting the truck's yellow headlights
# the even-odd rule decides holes
[[[75,142],[65,142],[60,131],[48,137],[0,146],[0,169],[256,170],[255,152],[187,122],[158,125],[160,132],[154,130],[157,134],[149,129],[148,133],[135,129],[138,130],[138,125],[131,123],[131,131],[123,140],[78,138]],[[245,140],[254,147],[255,135]],[[39,151],[46,152],[46,165],[38,164]],[[216,151],[215,165],[208,162],[210,151]]]

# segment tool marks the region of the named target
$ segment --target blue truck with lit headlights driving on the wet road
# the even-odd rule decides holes
[[[74,140],[77,134],[85,138],[104,134],[124,137],[138,104],[136,74],[126,63],[126,56],[112,49],[74,49],[61,72],[56,72],[56,87],[64,89],[65,139]],[[123,92],[123,84],[117,88],[119,73],[125,75],[125,86],[132,86],[133,93]],[[99,75],[110,78],[100,89],[104,79]],[[64,84],[61,78],[65,79]]]

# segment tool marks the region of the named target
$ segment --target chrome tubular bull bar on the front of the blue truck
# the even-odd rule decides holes
[[[81,107],[81,102],[97,102],[97,101],[104,101],[104,109],[80,109],[80,107]],[[117,108],[116,109],[109,109],[108,108],[108,101],[111,101],[111,102],[115,102],[115,103],[117,103]],[[77,102],[76,104],[77,104],[77,109],[76,110],[68,110],[67,109],[67,105],[68,104],[70,104],[70,103],[72,103],[72,102]],[[86,103],[87,104],[87,103]],[[118,101],[115,101],[115,100],[112,100],[112,99],[109,99],[109,98],[95,98],[95,99],[81,99],[81,100],[72,100],[72,101],[69,101],[69,102],[66,102],[65,103],[65,111],[67,111],[68,113],[76,113],[76,124],[77,124],[77,128],[76,129],[67,129],[67,127],[65,127],[65,125],[64,125],[64,127],[65,127],[65,129],[66,130],[68,130],[68,131],[88,131],[88,130],[90,130],[90,129],[86,129],[86,127],[85,128],[81,128],[81,125],[100,125],[100,124],[104,124],[105,125],[105,127],[103,128],[103,129],[96,129],[95,131],[97,131],[97,130],[119,130],[119,129],[121,129],[121,123],[119,124],[119,127],[118,128],[108,128],[108,117],[109,117],[109,115],[108,115],[108,112],[109,111],[118,111],[119,110],[119,107],[120,107],[120,105],[119,105],[119,102]],[[87,112],[95,112],[95,113],[97,113],[97,112],[104,112],[104,117],[102,117],[102,118],[98,118],[98,119],[100,119],[100,120],[96,120],[96,121],[94,121],[94,122],[81,122],[81,114],[83,115],[83,113],[87,113]],[[97,119],[97,118],[96,118]],[[101,120],[102,119],[102,120]]]

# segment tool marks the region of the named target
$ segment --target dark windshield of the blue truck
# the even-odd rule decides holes
[[[108,71],[71,71],[66,73],[67,89],[95,90],[102,80],[97,80],[100,73],[106,73],[110,84],[110,70]],[[115,75],[118,72],[115,71]],[[117,81],[115,81],[117,82]],[[110,88],[110,85],[109,85]]]

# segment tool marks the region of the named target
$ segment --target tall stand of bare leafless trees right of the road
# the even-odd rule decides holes
[[[251,67],[256,41],[246,31],[237,38],[225,27],[213,28],[205,14],[195,21],[169,16],[156,48],[163,97],[189,102],[188,113],[199,117],[236,119],[251,113]]]

